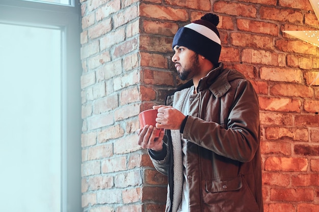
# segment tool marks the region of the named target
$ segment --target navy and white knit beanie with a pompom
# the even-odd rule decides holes
[[[216,28],[218,23],[217,15],[207,13],[200,20],[179,28],[174,36],[172,48],[174,49],[176,45],[187,47],[217,65],[222,49]]]

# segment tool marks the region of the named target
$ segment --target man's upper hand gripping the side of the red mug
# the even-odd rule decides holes
[[[153,106],[157,109],[156,128],[168,130],[180,130],[181,123],[186,117],[182,112],[172,106],[158,105]]]

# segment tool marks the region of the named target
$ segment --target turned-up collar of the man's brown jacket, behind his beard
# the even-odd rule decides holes
[[[223,96],[230,88],[227,73],[228,71],[224,70],[223,63],[219,63],[216,69],[211,70],[199,80],[197,92],[209,89],[216,98]]]

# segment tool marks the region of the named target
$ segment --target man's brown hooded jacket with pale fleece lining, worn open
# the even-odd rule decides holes
[[[174,96],[189,85],[168,96],[167,105],[174,105]],[[188,140],[189,211],[262,212],[259,105],[253,86],[220,64],[200,80],[198,94],[189,101],[182,134]],[[167,212],[177,195],[174,184],[182,185],[174,178],[182,173],[178,164],[173,165],[171,133],[166,131],[161,153],[149,150],[155,168],[168,175]]]

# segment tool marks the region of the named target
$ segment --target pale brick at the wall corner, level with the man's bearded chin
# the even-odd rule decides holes
[[[111,71],[111,70],[110,70]],[[125,75],[116,76],[113,79],[114,90],[120,90],[130,85],[136,86],[139,83],[139,74],[138,70],[134,70]]]

